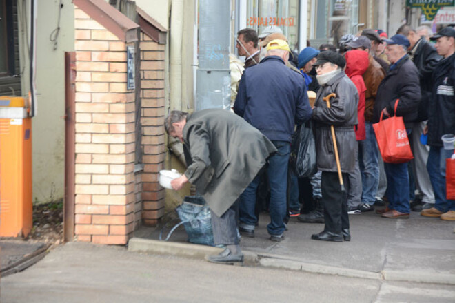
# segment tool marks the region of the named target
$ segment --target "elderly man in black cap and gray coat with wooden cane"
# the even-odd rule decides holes
[[[316,95],[312,119],[315,123],[315,139],[318,169],[322,171],[321,189],[325,227],[321,233],[312,235],[314,240],[343,242],[351,239],[347,216],[346,193],[341,189],[334,154],[331,125],[336,134],[336,145],[344,184],[349,186],[347,173],[353,172],[356,157],[356,134],[358,92],[356,86],[343,72],[346,61],[338,52],[325,51],[315,63],[317,79],[321,88]],[[323,98],[330,98],[330,108]]]

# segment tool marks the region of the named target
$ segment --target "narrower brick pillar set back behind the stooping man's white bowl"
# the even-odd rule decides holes
[[[141,101],[143,144],[143,223],[155,225],[164,213],[164,189],[159,185],[163,169],[164,136],[164,57],[165,45],[140,34]]]

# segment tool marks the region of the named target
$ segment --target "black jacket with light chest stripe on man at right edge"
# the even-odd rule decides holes
[[[439,61],[432,76],[433,98],[428,106],[428,141],[441,147],[441,136],[455,134],[455,54]]]

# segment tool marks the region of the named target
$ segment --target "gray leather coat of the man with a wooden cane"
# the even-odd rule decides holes
[[[330,107],[323,97],[334,92]],[[344,72],[336,74],[326,85],[321,86],[316,95],[313,109],[315,122],[316,156],[320,171],[337,171],[330,125],[334,125],[341,171],[354,171],[356,157],[356,134],[358,92],[356,86]]]

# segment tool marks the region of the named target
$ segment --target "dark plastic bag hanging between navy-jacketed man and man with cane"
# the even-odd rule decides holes
[[[316,143],[312,124],[300,125],[292,138],[290,165],[299,178],[309,177],[318,171],[316,166]]]

